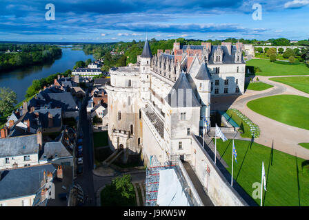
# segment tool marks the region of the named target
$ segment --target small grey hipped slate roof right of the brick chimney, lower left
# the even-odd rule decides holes
[[[57,154],[57,158],[72,157],[72,154],[67,150],[61,142],[47,142],[43,146],[43,153],[39,160],[54,159]],[[46,158],[44,158],[46,156]]]

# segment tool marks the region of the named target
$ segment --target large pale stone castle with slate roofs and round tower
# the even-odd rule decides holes
[[[210,96],[243,94],[242,43],[180,45],[153,56],[146,39],[137,65],[110,71],[108,135],[112,149],[195,161],[192,142],[210,121]]]

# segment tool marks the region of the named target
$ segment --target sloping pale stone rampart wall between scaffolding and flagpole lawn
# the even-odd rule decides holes
[[[192,135],[192,148],[194,157],[190,164],[192,168],[195,168],[195,174],[212,203],[215,206],[248,206],[248,203],[239,193],[230,186],[230,182],[226,180],[221,170],[214,164],[195,135]]]

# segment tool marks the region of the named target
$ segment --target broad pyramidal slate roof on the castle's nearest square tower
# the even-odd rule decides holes
[[[176,83],[165,98],[170,107],[200,107],[199,101],[186,77],[182,72]]]

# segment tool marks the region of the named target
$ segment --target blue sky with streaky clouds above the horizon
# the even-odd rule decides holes
[[[55,19],[46,20],[46,4]],[[261,20],[252,5],[261,5]],[[1,0],[0,41],[309,39],[309,0]]]

